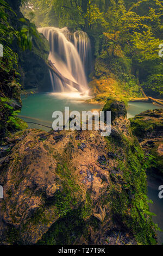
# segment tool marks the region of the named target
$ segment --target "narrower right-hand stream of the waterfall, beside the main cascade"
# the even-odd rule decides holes
[[[79,52],[79,56],[82,59],[86,74],[89,75],[92,69],[92,51],[90,39],[83,31],[76,31],[74,32],[73,36],[74,46]]]

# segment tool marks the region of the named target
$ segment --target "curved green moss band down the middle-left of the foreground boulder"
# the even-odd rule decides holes
[[[37,209],[33,216],[30,218],[29,223],[34,224],[48,224],[52,217],[63,218],[67,214],[70,214],[72,208],[77,208],[78,202],[80,200],[80,187],[71,175],[70,170],[68,170],[66,164],[58,164],[56,173],[60,176],[61,180],[61,191],[57,191],[53,198],[45,198],[45,194],[42,194],[42,198],[45,198],[45,205]],[[28,191],[27,191],[28,193]],[[45,212],[46,209],[46,212]],[[53,209],[53,214],[52,214]],[[49,212],[49,214],[47,213]],[[53,215],[53,216],[52,216]],[[23,230],[26,232],[28,223],[24,225]]]

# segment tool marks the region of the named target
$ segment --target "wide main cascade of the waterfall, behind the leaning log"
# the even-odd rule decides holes
[[[86,92],[88,87],[84,63],[86,63],[87,53],[84,53],[84,51],[87,50],[83,49],[80,51],[81,54],[78,53],[77,48],[71,42],[72,36],[68,28],[44,27],[38,28],[38,31],[49,41],[49,60],[51,60],[59,74],[70,81],[69,84],[62,81],[55,72],[49,70],[53,92],[77,92],[74,83],[78,84],[79,92]],[[76,41],[75,44],[77,45],[78,42]],[[86,43],[84,47],[87,49]]]

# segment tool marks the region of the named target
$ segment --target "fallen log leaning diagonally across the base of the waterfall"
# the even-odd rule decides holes
[[[63,76],[56,68],[55,66],[53,65],[53,63],[51,62],[51,60],[48,60],[48,68],[51,69],[55,75],[57,75],[60,80],[64,83],[67,83],[69,84],[70,86],[73,86],[74,88],[76,88],[79,92],[81,92],[81,89],[80,89],[80,85],[76,82],[73,82],[71,81],[70,79],[66,78],[65,76]]]

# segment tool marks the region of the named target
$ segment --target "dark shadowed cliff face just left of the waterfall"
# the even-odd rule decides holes
[[[15,11],[9,13],[9,20],[12,27],[20,31],[24,23],[20,21],[24,18],[19,10],[21,1],[7,0],[11,8]],[[26,19],[26,25],[30,22]],[[32,89],[39,92],[51,92],[51,82],[49,81],[49,71],[46,65],[49,53],[47,39],[37,33],[33,35],[32,50],[23,51],[17,45],[17,41],[12,42],[12,50],[18,54],[18,72],[20,73],[20,83],[24,89]]]

